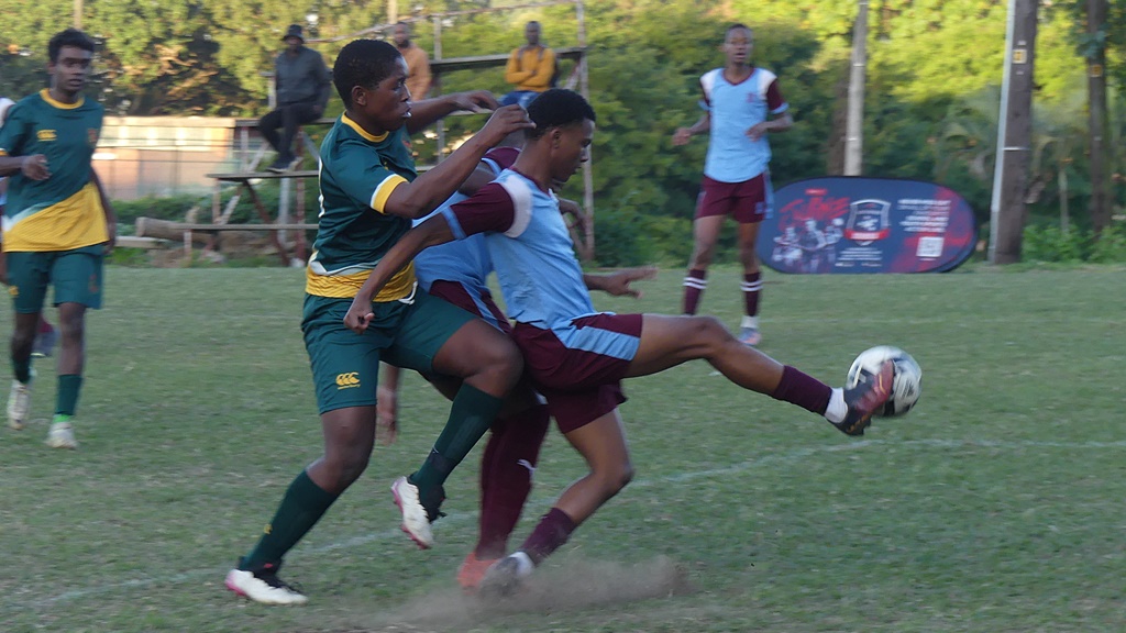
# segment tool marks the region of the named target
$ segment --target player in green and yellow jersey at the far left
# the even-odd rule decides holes
[[[16,104],[0,130],[0,176],[10,177],[2,277],[16,311],[8,425],[23,428],[30,411],[32,350],[54,286],[62,347],[47,445],[77,448],[71,418],[82,386],[86,311],[101,307],[102,258],[117,230],[91,166],[104,110],[82,97],[93,41],[69,28],[51,38],[47,53],[51,88]]]

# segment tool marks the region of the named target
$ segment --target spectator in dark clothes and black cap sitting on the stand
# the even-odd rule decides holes
[[[301,161],[293,152],[297,130],[324,114],[332,89],[329,69],[320,53],[305,47],[301,25],[289,25],[282,41],[286,48],[274,60],[277,107],[258,122],[258,131],[278,153],[270,171],[297,167]]]

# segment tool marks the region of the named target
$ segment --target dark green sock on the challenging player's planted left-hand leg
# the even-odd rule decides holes
[[[243,559],[241,569],[252,570],[265,563],[279,563],[310,529],[316,525],[339,494],[332,494],[302,471],[293,480],[274,520],[266,526],[258,545]]]

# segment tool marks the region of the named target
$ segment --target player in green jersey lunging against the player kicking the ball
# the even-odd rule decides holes
[[[343,324],[356,292],[383,253],[434,211],[509,133],[531,127],[518,106],[499,108],[475,136],[419,176],[408,134],[459,109],[495,108],[489,92],[412,102],[406,63],[386,42],[345,46],[332,69],[345,113],[321,144],[316,241],[306,270],[302,332],[324,435],[324,454],[289,485],[254,549],[227,573],[232,591],[263,604],[302,604],[278,579],[283,556],[367,467],[376,429],[381,359],[461,382],[446,427],[423,465],[392,491],[403,531],[420,547],[434,537],[443,483],[489,429],[524,363],[515,344],[483,320],[430,296],[404,268],[374,297],[374,328],[358,337]]]

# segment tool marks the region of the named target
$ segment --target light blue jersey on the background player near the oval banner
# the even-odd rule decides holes
[[[721,182],[743,182],[766,171],[770,162],[767,135],[751,141],[747,131],[789,108],[778,89],[778,77],[756,68],[743,81],[731,83],[721,68],[700,77],[700,88],[704,107],[712,115],[704,175]]]

